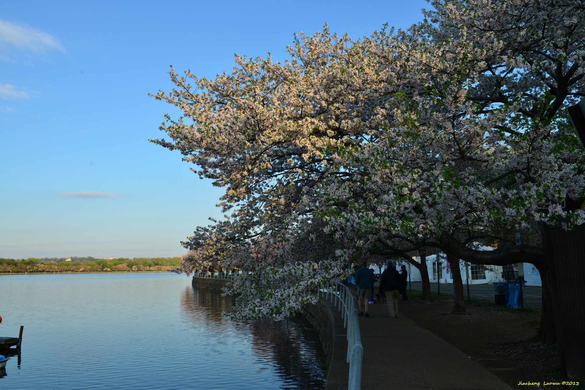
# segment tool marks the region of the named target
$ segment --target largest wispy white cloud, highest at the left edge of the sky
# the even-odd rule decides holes
[[[63,46],[55,37],[27,25],[0,20],[0,46],[13,46],[19,50],[39,53],[61,50]]]

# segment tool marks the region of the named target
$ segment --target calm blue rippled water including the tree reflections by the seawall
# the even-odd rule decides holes
[[[185,275],[0,275],[0,336],[25,326],[0,389],[324,388],[311,325],[231,321],[231,304]]]

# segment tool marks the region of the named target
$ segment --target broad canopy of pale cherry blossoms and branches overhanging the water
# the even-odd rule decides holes
[[[154,97],[184,114],[154,142],[226,188],[225,220],[183,243],[180,271],[243,270],[233,316],[288,316],[369,253],[538,264],[539,223],[585,222],[566,112],[585,96],[585,2],[431,4],[408,30],[325,26],[284,63],[236,56],[215,80],[171,68],[176,88]]]

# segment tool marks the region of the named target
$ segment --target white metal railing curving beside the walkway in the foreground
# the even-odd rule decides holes
[[[347,363],[349,363],[348,390],[362,388],[362,336],[357,318],[359,310],[357,299],[347,286],[341,282],[329,282],[326,288],[319,288],[319,295],[330,299],[343,318],[343,327],[347,327]]]

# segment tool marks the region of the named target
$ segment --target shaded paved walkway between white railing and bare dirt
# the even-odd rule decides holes
[[[511,390],[476,360],[407,317],[388,317],[387,306],[370,305],[370,317],[360,317],[360,333],[363,390]]]

